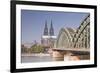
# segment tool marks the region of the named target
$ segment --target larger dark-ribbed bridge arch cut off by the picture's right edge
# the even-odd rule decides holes
[[[82,21],[73,40],[74,48],[90,48],[90,15]]]

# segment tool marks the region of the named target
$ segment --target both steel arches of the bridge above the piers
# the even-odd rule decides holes
[[[81,22],[75,30],[62,28],[55,43],[56,48],[90,49],[90,15]]]

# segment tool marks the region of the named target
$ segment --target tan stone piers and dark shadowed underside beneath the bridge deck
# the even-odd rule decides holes
[[[53,49],[52,58],[54,61],[76,61],[76,60],[89,60],[89,52],[73,52],[66,50]]]

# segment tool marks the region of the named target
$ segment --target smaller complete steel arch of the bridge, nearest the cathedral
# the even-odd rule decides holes
[[[72,28],[62,28],[57,37],[56,48],[72,47],[72,39],[74,32],[75,30]]]

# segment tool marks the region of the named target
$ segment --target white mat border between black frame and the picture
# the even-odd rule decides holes
[[[21,9],[26,10],[45,10],[45,11],[63,11],[63,12],[89,12],[90,13],[90,60],[68,61],[68,62],[38,62],[21,63]],[[70,7],[52,7],[36,5],[16,5],[16,69],[40,68],[55,66],[74,66],[94,64],[94,9],[70,8]]]

